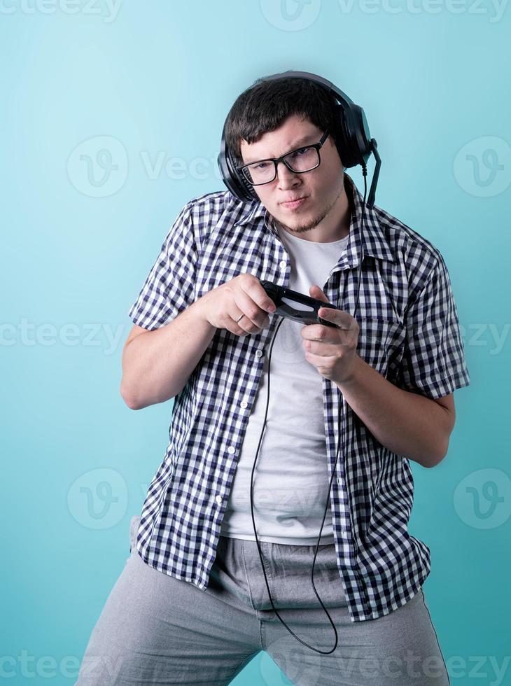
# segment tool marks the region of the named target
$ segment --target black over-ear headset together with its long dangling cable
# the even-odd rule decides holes
[[[333,106],[335,108],[336,112],[336,123],[335,123],[335,132],[332,132],[334,135],[335,139],[335,144],[337,146],[337,152],[339,153],[339,158],[342,160],[342,165],[343,167],[349,168],[349,167],[355,167],[356,165],[361,165],[362,171],[363,171],[363,178],[364,178],[364,200],[363,200],[363,210],[360,218],[360,235],[362,234],[362,229],[363,229],[363,221],[364,221],[364,214],[365,214],[365,195],[367,193],[367,160],[370,158],[371,153],[374,155],[374,159],[376,160],[376,166],[374,167],[374,174],[372,176],[372,183],[371,183],[371,190],[369,194],[369,198],[367,199],[367,207],[372,207],[374,204],[374,194],[376,193],[376,186],[378,182],[378,175],[379,175],[379,168],[381,165],[381,160],[378,155],[377,151],[377,142],[374,140],[374,138],[370,137],[369,133],[369,127],[367,126],[367,120],[365,119],[365,113],[363,109],[354,104],[353,101],[345,94],[342,92],[342,90],[339,90],[333,83],[330,81],[326,80],[325,78],[322,78],[321,76],[317,76],[316,74],[309,73],[308,71],[285,71],[283,73],[277,73],[273,74],[272,76],[266,76],[265,78],[262,78],[258,83],[261,81],[266,81],[266,80],[272,80],[274,78],[304,78],[308,79],[311,81],[314,81],[315,83],[318,83],[321,85],[323,88],[325,88],[326,92],[330,94],[330,96],[333,98]],[[253,86],[251,86],[253,87]],[[247,90],[250,90],[248,88]],[[245,91],[246,92],[246,91]],[[227,121],[227,120],[226,120]],[[231,151],[228,149],[228,146],[225,143],[225,123],[223,125],[223,131],[222,131],[222,142],[221,142],[221,149],[220,153],[218,155],[218,167],[220,168],[221,175],[223,182],[225,183],[225,186],[230,190],[232,195],[235,195],[235,197],[238,198],[238,200],[242,201],[248,201],[252,202],[253,200],[258,200],[258,196],[256,195],[255,191],[253,190],[253,186],[251,186],[250,183],[245,179],[244,175],[238,172],[237,170],[237,162],[232,155]],[[361,269],[361,267],[360,267]],[[355,316],[356,309],[358,307],[358,295],[360,293],[360,283],[362,281],[361,274],[358,278],[358,286],[357,286],[357,293],[356,293],[356,302],[355,302],[355,307],[353,309],[353,317]],[[251,502],[251,515],[252,515],[252,524],[253,524],[253,531],[255,534],[255,542],[257,543],[258,546],[258,551],[259,551],[259,557],[261,561],[261,567],[262,567],[262,573],[265,576],[265,582],[266,582],[266,588],[268,591],[268,596],[269,596],[269,602],[272,604],[272,608],[274,609],[274,612],[276,616],[279,618],[281,624],[283,624],[286,629],[289,631],[289,633],[294,636],[300,643],[303,645],[311,648],[311,650],[314,650],[314,652],[318,652],[323,655],[328,655],[332,652],[334,652],[335,648],[337,647],[337,629],[335,628],[335,624],[332,622],[332,618],[328,614],[328,610],[325,608],[325,605],[323,605],[323,602],[321,601],[321,598],[318,596],[318,591],[316,591],[316,587],[314,586],[314,564],[316,563],[316,555],[318,554],[318,545],[319,541],[321,540],[321,531],[323,531],[323,524],[325,523],[325,517],[326,517],[326,512],[328,510],[328,503],[330,501],[330,489],[332,488],[332,479],[335,475],[335,467],[337,466],[337,459],[339,458],[339,449],[342,443],[342,448],[343,448],[343,454],[344,454],[344,441],[342,440],[342,435],[341,435],[341,412],[340,412],[340,407],[341,403],[339,402],[339,415],[337,417],[337,435],[339,437],[339,440],[337,442],[337,456],[335,458],[335,464],[332,468],[332,476],[330,477],[330,484],[328,486],[328,493],[329,497],[327,498],[327,503],[325,505],[325,513],[323,514],[323,521],[321,522],[321,528],[319,530],[319,535],[318,535],[318,542],[316,544],[316,552],[314,553],[314,560],[312,561],[312,568],[311,568],[311,584],[312,587],[314,588],[314,593],[316,594],[316,598],[318,598],[318,601],[321,603],[321,607],[323,610],[325,610],[325,614],[327,615],[328,619],[330,620],[330,624],[332,625],[332,628],[335,633],[335,645],[332,647],[331,650],[319,650],[318,648],[315,648],[312,645],[309,645],[309,643],[306,643],[304,640],[299,638],[292,629],[289,628],[289,626],[286,624],[286,622],[283,621],[281,616],[279,615],[279,612],[277,612],[275,605],[273,604],[272,601],[272,594],[269,591],[269,585],[268,585],[268,580],[266,577],[266,572],[265,572],[265,565],[264,561],[262,559],[262,551],[260,549],[259,545],[259,539],[257,535],[257,531],[255,530],[255,519],[253,516],[253,496],[252,496],[252,491],[253,491],[253,474],[255,470],[255,463],[257,462],[258,454],[259,454],[259,449],[260,449],[260,444],[262,441],[262,435],[265,430],[266,426],[266,417],[268,413],[268,405],[269,405],[269,365],[272,360],[272,349],[273,349],[273,344],[275,342],[275,337],[277,332],[279,331],[279,328],[281,327],[281,324],[283,323],[283,318],[281,318],[281,321],[276,325],[276,330],[274,332],[272,342],[269,346],[269,356],[268,356],[268,388],[267,388],[267,402],[266,402],[266,412],[265,412],[265,419],[263,422],[263,428],[261,431],[261,435],[259,437],[259,443],[258,443],[258,449],[255,453],[255,459],[252,467],[252,474],[251,474],[251,489],[250,489],[250,502]]]

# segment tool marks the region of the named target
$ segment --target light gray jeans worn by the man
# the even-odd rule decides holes
[[[131,554],[92,630],[75,686],[220,686],[262,650],[300,686],[449,685],[422,590],[389,615],[351,622],[335,546],[320,546],[314,584],[338,634],[335,651],[322,655],[276,617],[255,541],[221,536],[202,591],[141,559],[134,545],[139,521],[130,521]],[[311,584],[316,546],[260,546],[283,621],[305,643],[330,650],[335,634]],[[258,683],[265,684],[263,673]]]

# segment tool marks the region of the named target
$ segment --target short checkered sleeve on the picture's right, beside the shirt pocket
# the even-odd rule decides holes
[[[407,310],[400,381],[406,391],[432,399],[470,384],[458,311],[442,255]]]

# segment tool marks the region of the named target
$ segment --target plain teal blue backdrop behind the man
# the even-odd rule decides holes
[[[100,0],[0,3],[6,682],[76,680],[172,412],[120,396],[127,310],[183,204],[224,189],[237,94],[297,69],[363,106],[376,204],[449,268],[471,385],[444,461],[411,463],[409,528],[431,549],[424,590],[452,683],[511,684],[510,9],[286,1],[125,0],[115,16]],[[97,137],[118,141],[111,160]],[[106,181],[102,164],[117,165]],[[290,680],[260,653],[233,683]]]

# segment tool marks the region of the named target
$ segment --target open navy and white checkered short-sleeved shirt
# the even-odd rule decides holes
[[[344,176],[354,203],[349,241],[322,289],[332,304],[353,313],[362,279],[355,313],[358,355],[395,386],[428,398],[468,386],[456,304],[440,251],[378,207],[365,208],[361,241],[363,197]],[[207,193],[181,209],[128,314],[153,330],[237,274],[287,286],[290,269],[260,202],[241,202],[229,191]],[[279,321],[269,318],[269,328],[246,337],[216,330],[174,398],[169,445],[141,514],[136,542],[141,559],[202,590],[216,556],[263,356]],[[329,478],[339,411],[344,437],[345,454],[339,454],[330,492],[339,575],[351,621],[374,619],[419,591],[430,572],[430,550],[407,531],[414,493],[408,458],[379,443],[337,386],[322,378]]]

